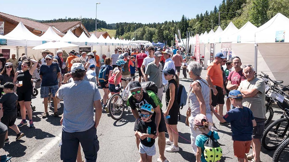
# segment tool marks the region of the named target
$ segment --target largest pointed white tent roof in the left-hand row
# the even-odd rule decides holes
[[[36,36],[35,34],[31,33],[22,22],[19,24],[8,34],[5,36],[22,39],[25,41],[16,41],[16,40],[7,40],[8,46],[26,46],[26,47],[34,47],[36,45],[42,44],[42,38]]]

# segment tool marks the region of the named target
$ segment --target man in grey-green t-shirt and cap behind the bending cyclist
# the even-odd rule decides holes
[[[162,82],[162,64],[160,64],[160,58],[163,56],[160,51],[154,53],[154,61],[148,64],[144,72],[144,80],[152,81],[156,84],[158,88],[157,96],[160,98],[160,101],[163,97],[163,82]]]

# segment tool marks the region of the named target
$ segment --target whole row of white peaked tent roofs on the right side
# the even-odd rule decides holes
[[[211,29],[209,33],[207,31],[201,33],[199,39],[201,44],[223,42],[272,43],[275,42],[276,32],[285,31],[289,31],[289,18],[277,13],[259,28],[248,21],[243,27],[238,29],[230,22],[224,30],[219,26],[215,32]],[[289,42],[289,38],[285,39],[285,42]],[[196,44],[196,36],[190,37],[189,44]]]

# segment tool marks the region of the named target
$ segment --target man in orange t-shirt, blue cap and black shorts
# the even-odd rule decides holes
[[[211,64],[207,68],[206,80],[211,87],[211,96],[212,96],[212,106],[214,106],[215,110],[218,106],[218,114],[223,115],[223,106],[224,94],[226,94],[224,82],[223,82],[223,72],[221,70],[220,64],[226,57],[223,53],[219,52],[215,56],[215,60],[211,62]],[[220,106],[221,105],[221,106]],[[227,123],[220,123],[220,125],[224,125]],[[215,130],[216,126],[213,124],[212,129]],[[217,131],[217,129],[216,129]]]

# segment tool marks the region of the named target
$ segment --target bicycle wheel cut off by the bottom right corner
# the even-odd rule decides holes
[[[281,143],[273,154],[272,162],[287,162],[289,156],[289,138]]]

